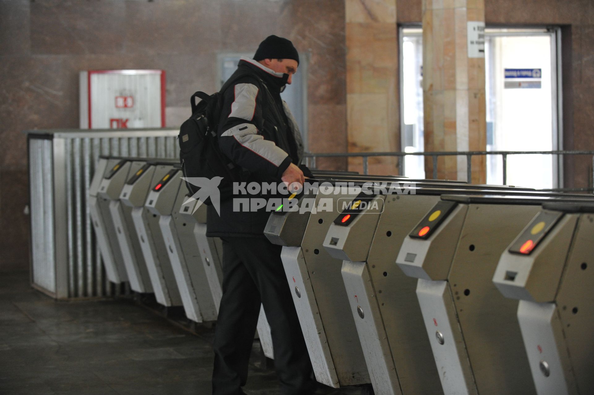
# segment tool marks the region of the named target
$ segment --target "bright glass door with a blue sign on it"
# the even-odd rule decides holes
[[[554,30],[486,29],[488,151],[551,151],[558,144],[557,40]],[[503,182],[503,159],[489,156],[487,183]],[[557,158],[507,157],[508,185],[556,188]]]

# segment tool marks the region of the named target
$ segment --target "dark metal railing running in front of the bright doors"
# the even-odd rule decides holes
[[[590,180],[594,187],[594,151],[433,151],[433,152],[343,152],[343,153],[306,153],[304,155],[307,166],[315,168],[315,161],[321,157],[361,157],[363,160],[363,173],[368,174],[369,157],[386,156],[397,157],[399,174],[404,174],[405,156],[431,156],[433,160],[433,178],[437,179],[437,158],[440,156],[466,156],[466,179],[472,180],[472,157],[500,155],[503,159],[503,185],[507,185],[507,157],[510,155],[590,155],[592,156],[592,169]],[[565,188],[554,188],[554,190],[563,190]],[[573,188],[573,191],[593,191],[592,188]]]

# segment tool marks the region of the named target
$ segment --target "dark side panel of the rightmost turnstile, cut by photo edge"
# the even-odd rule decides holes
[[[580,394],[594,393],[593,245],[594,215],[582,214],[557,295],[558,311],[565,333],[565,339],[558,337],[557,344],[561,347],[561,341],[566,342]]]

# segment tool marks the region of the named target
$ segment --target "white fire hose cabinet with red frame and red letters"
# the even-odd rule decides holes
[[[80,72],[80,128],[165,127],[165,70]]]

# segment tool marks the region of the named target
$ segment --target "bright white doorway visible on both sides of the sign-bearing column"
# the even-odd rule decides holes
[[[560,29],[485,29],[487,151],[561,150]],[[421,27],[400,28],[403,151],[424,150]],[[507,157],[508,185],[558,188],[561,158]],[[421,156],[405,156],[404,175],[425,176]],[[503,184],[503,158],[487,156],[487,183]]]

